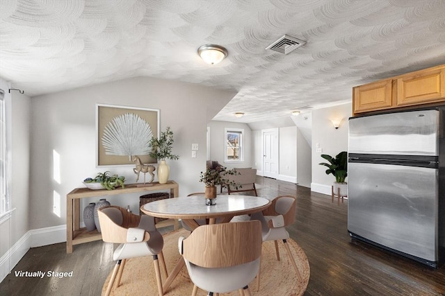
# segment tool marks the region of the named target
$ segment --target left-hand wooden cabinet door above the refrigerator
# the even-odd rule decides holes
[[[382,80],[353,88],[353,112],[369,112],[392,106],[392,80]]]

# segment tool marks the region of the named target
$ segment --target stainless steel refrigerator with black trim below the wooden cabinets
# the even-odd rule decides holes
[[[348,232],[438,267],[445,248],[442,108],[349,119]]]

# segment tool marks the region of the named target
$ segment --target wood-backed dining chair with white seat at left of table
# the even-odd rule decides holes
[[[152,255],[159,296],[162,296],[159,261],[163,265],[165,278],[168,277],[168,273],[162,253],[163,237],[154,226],[154,217],[134,215],[127,209],[118,206],[102,207],[97,210],[97,214],[102,230],[102,240],[106,243],[120,243],[113,252],[113,260],[117,262],[105,295],[110,294],[115,281],[119,286],[127,259]]]

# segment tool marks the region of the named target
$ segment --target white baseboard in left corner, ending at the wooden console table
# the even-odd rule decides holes
[[[67,226],[58,225],[29,230],[0,258],[0,282],[13,270],[31,247],[67,241]]]

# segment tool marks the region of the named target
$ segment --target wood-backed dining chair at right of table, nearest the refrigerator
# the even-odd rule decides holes
[[[275,251],[277,253],[277,260],[280,260],[280,250],[278,249],[278,240],[282,240],[284,248],[289,256],[289,260],[293,268],[295,269],[297,278],[302,280],[300,272],[295,259],[292,256],[291,249],[287,243],[289,238],[289,232],[286,230],[286,226],[295,222],[296,214],[296,197],[292,195],[280,195],[275,198],[270,207],[262,212],[254,213],[250,216],[250,220],[261,221],[263,241],[274,241]],[[257,277],[257,290],[260,285],[260,273]]]

